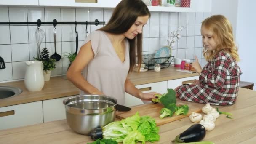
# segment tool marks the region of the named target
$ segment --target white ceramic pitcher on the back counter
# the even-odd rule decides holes
[[[25,61],[27,69],[24,83],[28,91],[41,91],[45,81],[42,61]]]

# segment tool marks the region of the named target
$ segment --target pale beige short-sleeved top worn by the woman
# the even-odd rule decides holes
[[[130,66],[129,43],[125,40],[125,61],[122,62],[104,31],[94,31],[85,39],[83,45],[91,40],[94,58],[83,70],[85,80],[107,96],[125,104],[125,80]],[[80,91],[80,94],[86,94]]]

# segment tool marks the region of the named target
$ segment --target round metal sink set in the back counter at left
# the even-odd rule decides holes
[[[22,93],[21,88],[0,86],[0,99],[5,99],[11,96],[17,96]]]

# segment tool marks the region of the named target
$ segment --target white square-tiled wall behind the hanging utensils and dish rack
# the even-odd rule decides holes
[[[88,8],[37,8],[37,7],[0,7],[0,22],[27,22],[27,21],[109,21],[113,9]],[[202,54],[202,37],[200,34],[201,22],[211,16],[210,13],[178,13],[178,12],[151,12],[151,18],[143,28],[143,54],[156,53],[157,50],[168,45],[168,34],[176,31],[178,26],[184,26],[182,37],[172,48],[172,55],[181,59],[195,60],[195,56],[202,65],[206,61]],[[103,24],[88,25],[92,32],[103,27]],[[56,69],[51,75],[63,75],[67,72],[69,60],[64,53],[75,52],[75,25],[58,24],[57,53],[62,59],[56,62]],[[0,70],[0,82],[19,80],[24,78],[26,64],[24,61],[33,60],[37,55],[37,41],[35,38],[36,25],[0,25],[0,56],[5,60],[6,68]],[[40,49],[47,47],[50,55],[54,53],[53,26],[42,25],[40,29],[45,37]],[[79,47],[85,40],[85,24],[77,24]]]

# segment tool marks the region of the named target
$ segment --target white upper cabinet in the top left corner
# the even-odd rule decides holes
[[[38,0],[0,0],[0,5],[38,6]]]

